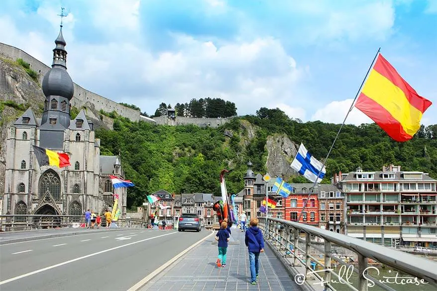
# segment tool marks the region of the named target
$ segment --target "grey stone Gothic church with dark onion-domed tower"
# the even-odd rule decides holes
[[[123,179],[120,158],[101,156],[100,140],[85,111],[71,120],[73,81],[67,73],[66,42],[61,30],[55,40],[52,68],[44,75],[46,96],[42,118],[29,108],[8,128],[3,214],[82,215],[113,205],[113,194],[125,217],[126,188],[113,189],[109,175]],[[38,165],[32,145],[64,152],[71,166]]]

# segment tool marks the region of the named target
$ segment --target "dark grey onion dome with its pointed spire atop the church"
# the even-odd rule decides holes
[[[74,85],[67,73],[67,51],[65,50],[67,43],[62,35],[62,26],[55,44],[52,68],[44,75],[42,91],[46,97],[61,96],[71,100],[74,95]]]

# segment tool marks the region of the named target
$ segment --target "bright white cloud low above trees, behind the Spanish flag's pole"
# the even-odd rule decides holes
[[[328,123],[341,124],[349,111],[350,104],[353,99],[346,99],[342,101],[332,101],[325,107],[319,109],[311,117],[311,120],[320,120]],[[353,107],[346,119],[346,124],[360,125],[362,123],[373,123],[373,120],[367,117],[363,112]]]

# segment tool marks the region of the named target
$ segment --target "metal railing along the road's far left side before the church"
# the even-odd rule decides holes
[[[79,227],[85,222],[83,215],[0,215],[0,231],[33,230],[44,228]],[[146,227],[148,222],[142,220],[119,218],[118,227]],[[102,217],[102,226],[106,219]]]

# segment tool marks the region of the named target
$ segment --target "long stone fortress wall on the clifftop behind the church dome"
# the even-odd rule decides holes
[[[37,59],[27,54],[26,52],[4,43],[0,43],[0,57],[11,59],[11,60],[16,60],[18,58],[21,58],[26,63],[29,63],[30,68],[36,73],[38,73],[38,79],[40,84],[42,83],[44,74],[47,73],[48,70],[50,70],[49,66],[38,61]],[[89,104],[93,104],[94,108],[97,111],[101,109],[107,112],[115,111],[119,115],[129,118],[132,121],[138,121],[140,119],[140,111],[125,107],[108,98],[90,92],[80,87],[76,83],[74,83],[74,97],[73,99],[71,99],[71,104],[72,106],[76,106],[78,108],[87,105],[89,106]]]

